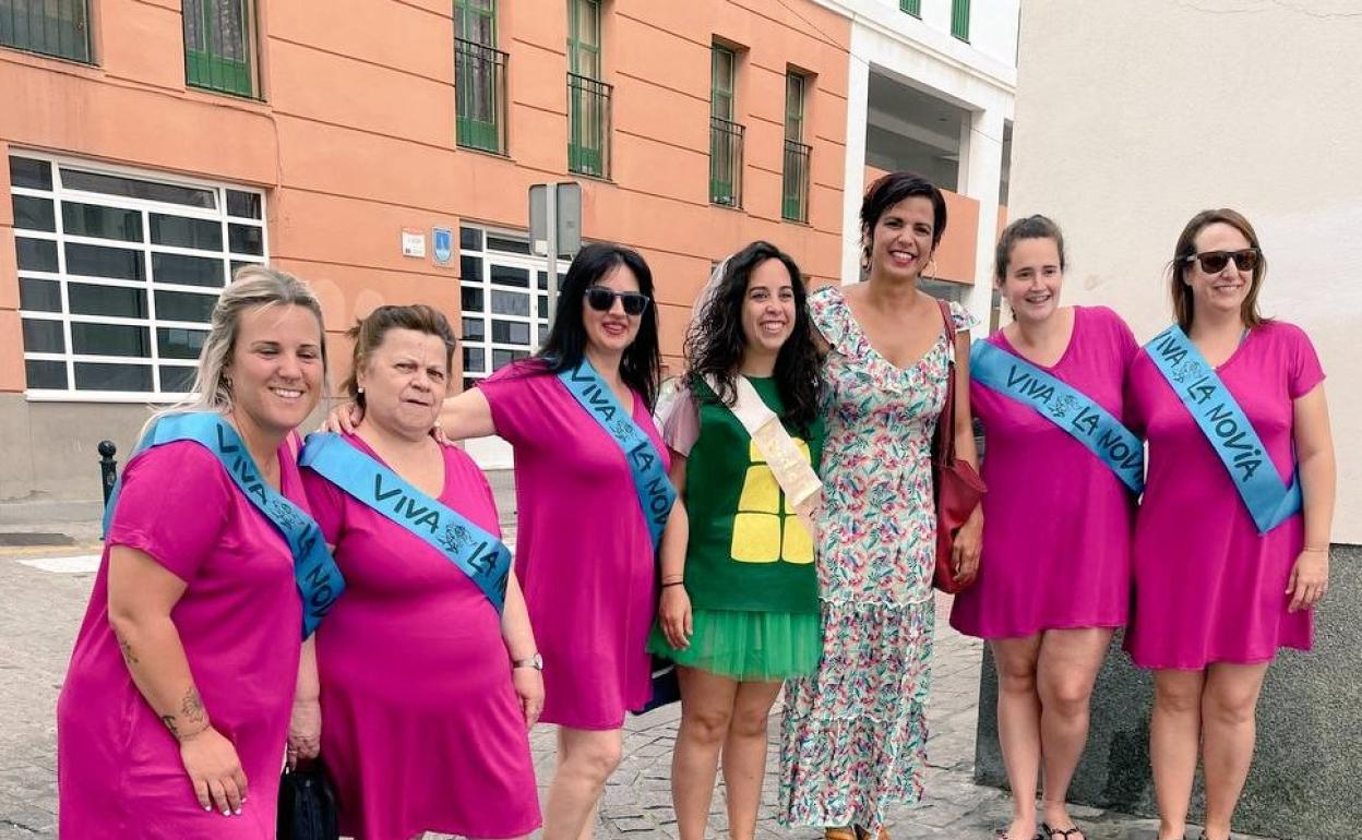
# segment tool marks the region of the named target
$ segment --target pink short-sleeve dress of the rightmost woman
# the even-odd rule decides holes
[[[1269,467],[1295,470],[1294,400],[1324,380],[1298,327],[1253,328],[1216,368],[1263,438]],[[1150,441],[1150,471],[1135,527],[1135,607],[1125,647],[1145,668],[1201,670],[1271,662],[1278,648],[1312,645],[1312,611],[1287,613],[1291,566],[1305,546],[1297,513],[1260,536],[1234,483],[1148,353],[1129,373],[1133,421]]]

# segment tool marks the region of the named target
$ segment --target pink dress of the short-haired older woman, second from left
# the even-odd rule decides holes
[[[376,457],[358,436],[346,440]],[[462,449],[441,453],[440,502],[500,535],[482,471]],[[317,630],[321,758],[340,832],[530,833],[534,764],[496,607],[421,538],[312,470],[302,481],[346,580]]]

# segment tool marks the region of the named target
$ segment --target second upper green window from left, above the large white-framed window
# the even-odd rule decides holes
[[[253,0],[184,0],[189,87],[256,97]]]

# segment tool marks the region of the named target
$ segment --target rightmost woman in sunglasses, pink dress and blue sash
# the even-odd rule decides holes
[[[1154,670],[1159,840],[1186,830],[1199,746],[1204,837],[1230,836],[1264,674],[1279,648],[1310,648],[1312,607],[1328,589],[1324,372],[1305,332],[1258,314],[1265,274],[1246,218],[1193,216],[1169,270],[1177,324],[1129,373],[1150,471],[1125,645]]]

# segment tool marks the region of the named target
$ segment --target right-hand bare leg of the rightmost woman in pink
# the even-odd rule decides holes
[[[1201,693],[1205,836],[1227,840],[1253,762],[1256,711],[1268,664],[1212,664]]]

